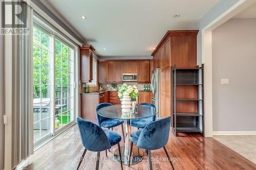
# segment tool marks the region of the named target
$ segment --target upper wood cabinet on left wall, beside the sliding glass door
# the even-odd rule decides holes
[[[92,45],[80,47],[80,80],[91,82],[93,80],[93,51]]]

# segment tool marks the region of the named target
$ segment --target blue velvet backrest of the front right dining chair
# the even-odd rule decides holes
[[[137,147],[146,150],[157,150],[168,142],[170,116],[148,124],[140,133]]]

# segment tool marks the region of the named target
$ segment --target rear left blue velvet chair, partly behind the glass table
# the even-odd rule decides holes
[[[97,115],[98,125],[100,127],[103,127],[103,128],[108,128],[108,129],[111,128],[112,130],[113,130],[114,127],[121,125],[122,126],[123,141],[125,141],[124,132],[123,132],[123,120],[114,119],[114,118],[106,118],[106,117],[100,116],[98,114],[98,110],[103,108],[103,107],[106,107],[106,106],[112,106],[112,104],[110,104],[110,103],[101,103],[96,107],[96,115]]]

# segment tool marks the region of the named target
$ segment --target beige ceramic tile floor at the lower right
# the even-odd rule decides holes
[[[215,135],[214,138],[256,164],[256,135]]]

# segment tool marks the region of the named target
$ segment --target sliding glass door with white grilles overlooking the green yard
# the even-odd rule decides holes
[[[33,24],[34,147],[74,123],[74,48]]]

